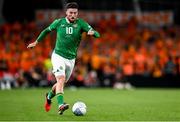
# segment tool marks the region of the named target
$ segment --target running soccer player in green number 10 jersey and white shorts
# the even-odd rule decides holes
[[[51,31],[57,32],[56,45],[51,56],[53,74],[56,83],[51,91],[46,94],[45,110],[48,112],[51,108],[51,99],[56,96],[58,102],[58,113],[61,115],[69,108],[69,104],[64,102],[64,85],[69,80],[77,55],[78,46],[83,32],[87,35],[100,37],[87,22],[78,18],[78,4],[71,2],[66,5],[66,17],[56,19],[49,27],[44,29],[36,41],[32,42],[27,48],[35,47]]]

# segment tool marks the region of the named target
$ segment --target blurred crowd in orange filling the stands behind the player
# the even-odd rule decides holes
[[[113,16],[90,24],[101,38],[83,34],[69,86],[115,87],[116,83],[127,83],[131,87],[128,80],[133,75],[180,76],[178,26],[143,26],[134,17],[120,25]],[[50,61],[55,32],[35,48],[26,48],[46,26],[35,22],[0,25],[2,89],[44,87],[55,82]]]

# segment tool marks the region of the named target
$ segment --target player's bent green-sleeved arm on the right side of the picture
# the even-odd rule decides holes
[[[99,38],[100,37],[100,34],[99,32],[97,32],[96,30],[94,30],[87,22],[81,20],[81,25],[82,25],[82,28],[85,32],[87,32],[87,35],[90,35],[90,36],[94,36],[96,38]]]

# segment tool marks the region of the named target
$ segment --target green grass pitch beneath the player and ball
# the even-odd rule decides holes
[[[56,98],[52,109],[44,111],[44,95],[49,89],[0,91],[0,121],[178,121],[180,89],[65,89],[65,101],[87,105],[85,116],[71,109],[57,114]]]

